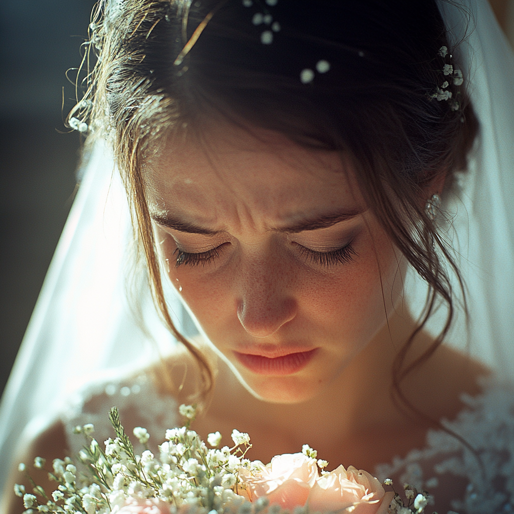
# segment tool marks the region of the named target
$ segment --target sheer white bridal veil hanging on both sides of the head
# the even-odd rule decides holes
[[[514,56],[486,0],[440,2],[458,45],[480,136],[469,171],[446,198],[443,227],[467,286],[469,326],[457,312],[451,344],[514,379]],[[108,149],[96,144],[0,405],[0,485],[14,449],[38,433],[87,382],[127,374],[173,350],[148,283],[134,275],[130,214]],[[136,273],[137,274],[137,273]],[[456,291],[458,287],[455,286]],[[409,276],[405,305],[417,314],[424,284]],[[169,286],[177,327],[196,328]],[[137,301],[136,301],[137,300]],[[135,306],[138,306],[137,308]],[[444,313],[440,313],[443,316]],[[442,320],[435,316],[430,329]],[[142,322],[144,320],[144,323]]]

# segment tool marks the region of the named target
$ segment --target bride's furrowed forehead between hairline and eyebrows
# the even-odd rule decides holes
[[[212,223],[249,210],[277,219],[363,206],[349,160],[230,125],[170,137],[143,170],[151,208]]]

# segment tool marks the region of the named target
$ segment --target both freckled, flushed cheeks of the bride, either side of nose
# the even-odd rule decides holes
[[[244,270],[230,264],[177,268],[173,238],[166,234],[160,240],[162,255],[169,259],[172,284],[211,341],[221,348],[230,344],[231,336],[238,340],[245,335],[237,317],[236,293]],[[393,282],[401,281],[395,281],[397,258],[385,236],[375,233],[374,238],[363,238],[356,251],[354,261],[327,269],[313,269],[294,260],[280,265],[273,259],[266,261],[270,274],[278,266],[287,272],[289,279],[278,281],[286,289],[281,294],[289,296],[298,308],[295,319],[283,327],[284,334],[319,338],[336,346],[343,343],[351,353],[371,340],[386,322],[386,308],[390,310],[397,296]],[[273,287],[274,282],[270,284]]]

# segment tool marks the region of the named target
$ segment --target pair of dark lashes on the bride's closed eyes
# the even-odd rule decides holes
[[[300,249],[301,255],[305,255],[306,259],[309,259],[311,263],[323,267],[336,266],[337,264],[346,264],[350,261],[353,261],[353,256],[357,255],[351,243],[348,243],[342,248],[331,250],[329,252],[318,252],[316,250],[306,248],[305,246],[302,246],[298,243],[297,245]],[[216,248],[213,248],[212,250],[200,253],[183,252],[177,248],[173,252],[173,255],[177,254],[175,267],[178,268],[182,264],[191,267],[198,266],[199,264],[203,266],[205,266],[206,263],[210,264],[212,261],[219,257],[221,254],[220,249],[222,246],[224,245],[220,245]]]

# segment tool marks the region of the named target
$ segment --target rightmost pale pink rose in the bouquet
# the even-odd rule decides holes
[[[393,492],[385,492],[380,482],[362,469],[339,466],[321,476],[310,491],[311,512],[338,510],[352,514],[386,514]],[[343,510],[344,509],[344,510]]]

